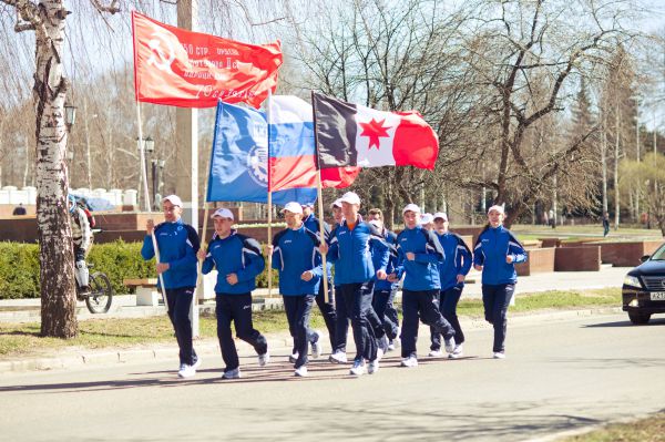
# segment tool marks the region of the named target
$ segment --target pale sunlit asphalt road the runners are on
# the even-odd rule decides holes
[[[244,378],[222,381],[208,356],[192,380],[176,361],[114,364],[0,378],[0,439],[7,441],[528,440],[665,409],[665,317],[646,327],[625,315],[509,323],[505,360],[491,330],[470,329],[466,358],[352,379],[323,360],[296,379],[287,350]]]

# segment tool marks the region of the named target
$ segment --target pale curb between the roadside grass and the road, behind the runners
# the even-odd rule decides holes
[[[214,311],[214,308],[213,308]],[[575,318],[585,318],[591,316],[601,315],[615,315],[621,313],[621,307],[604,307],[597,309],[581,309],[581,310],[564,310],[564,311],[544,311],[544,312],[532,312],[532,313],[512,313],[509,317],[509,321],[513,326],[529,325],[532,322],[542,321],[559,321]],[[484,329],[491,328],[492,326],[483,318],[480,317],[461,317],[466,322],[464,328],[469,329]],[[324,333],[327,337],[327,333]],[[287,331],[276,332],[266,335],[270,343],[270,351],[285,350],[290,351],[291,338]],[[236,339],[237,341],[237,339]],[[219,345],[215,338],[205,338],[194,341],[196,352],[201,354],[219,354]],[[71,351],[71,350],[70,350]],[[0,374],[2,373],[19,373],[27,371],[48,371],[59,369],[75,369],[86,368],[111,363],[137,363],[146,361],[157,361],[165,359],[174,359],[177,354],[176,345],[157,345],[147,348],[132,348],[126,349],[102,349],[102,350],[83,350],[75,356],[52,356],[52,357],[37,357],[25,358],[12,361],[0,361]],[[241,343],[238,348],[239,356],[252,356],[253,350]],[[536,441],[536,440],[534,440]],[[540,441],[540,440],[539,440]],[[543,440],[544,441],[544,440]]]

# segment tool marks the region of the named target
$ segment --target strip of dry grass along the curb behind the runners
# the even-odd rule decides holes
[[[597,289],[586,291],[545,291],[533,295],[519,295],[513,312],[544,309],[571,309],[581,307],[620,306],[621,289]],[[482,317],[480,299],[463,299],[458,306],[460,316]],[[266,310],[254,312],[254,327],[263,333],[288,329],[284,311]],[[317,308],[311,315],[311,327],[325,329],[323,317]],[[155,342],[173,342],[173,329],[166,316],[137,319],[89,319],[79,322],[79,336],[62,340],[41,338],[40,325],[0,323],[0,359],[25,356],[42,356],[65,348],[129,348]],[[215,338],[216,320],[201,317],[202,338]]]

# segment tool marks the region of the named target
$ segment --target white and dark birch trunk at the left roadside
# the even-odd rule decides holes
[[[76,297],[72,233],[66,204],[69,191],[65,152],[62,49],[68,12],[62,0],[41,0],[42,24],[35,29],[37,70],[33,100],[37,114],[37,222],[40,244],[41,333],[76,336]]]

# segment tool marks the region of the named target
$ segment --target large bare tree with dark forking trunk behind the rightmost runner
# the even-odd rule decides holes
[[[562,174],[583,175],[580,167],[590,164],[585,146],[595,126],[535,157],[528,153],[528,134],[548,115],[565,110],[573,79],[591,76],[616,42],[628,37],[621,20],[631,9],[622,1],[540,0],[480,1],[472,8],[479,24],[469,43],[469,66],[484,75],[484,91],[493,97],[485,107],[487,123],[499,140],[495,171],[484,185],[494,189],[495,204],[509,206],[510,225],[554,178],[561,187]],[[572,16],[583,19],[572,23]],[[533,93],[535,81],[540,96]]]

